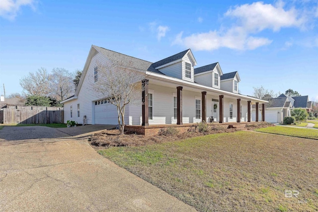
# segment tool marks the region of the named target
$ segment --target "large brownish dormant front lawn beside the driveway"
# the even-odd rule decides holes
[[[98,152],[198,211],[318,210],[316,140],[238,131]]]

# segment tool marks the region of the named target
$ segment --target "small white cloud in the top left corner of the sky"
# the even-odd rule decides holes
[[[14,20],[20,7],[27,5],[34,9],[34,0],[0,0],[0,16]]]

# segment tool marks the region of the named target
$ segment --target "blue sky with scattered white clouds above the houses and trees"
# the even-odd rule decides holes
[[[82,69],[91,45],[156,62],[191,48],[239,71],[239,91],[318,101],[318,1],[0,0],[0,94],[44,67]]]

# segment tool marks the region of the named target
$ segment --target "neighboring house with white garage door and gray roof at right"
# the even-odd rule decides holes
[[[271,123],[282,123],[284,117],[291,116],[294,108],[307,109],[307,111],[312,108],[312,102],[309,101],[308,96],[288,97],[285,94],[270,99],[268,105],[269,107],[265,110],[265,120]],[[254,113],[252,113],[252,120],[255,120]]]

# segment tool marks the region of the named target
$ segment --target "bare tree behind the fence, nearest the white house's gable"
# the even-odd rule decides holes
[[[54,68],[51,76],[51,95],[63,101],[74,93],[73,75],[64,68]]]

